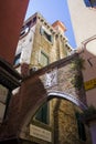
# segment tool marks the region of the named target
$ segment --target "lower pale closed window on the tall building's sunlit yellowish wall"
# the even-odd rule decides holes
[[[43,51],[41,51],[40,64],[42,66],[45,66],[49,64],[49,56]]]

